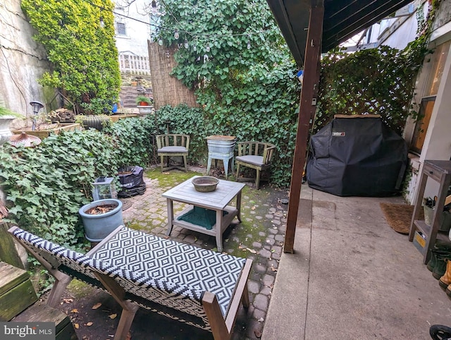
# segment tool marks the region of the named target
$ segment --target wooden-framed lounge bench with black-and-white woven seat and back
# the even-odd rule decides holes
[[[119,226],[86,254],[17,226],[8,230],[55,277],[54,306],[73,278],[104,289],[123,311],[114,339],[126,339],[139,307],[230,339],[240,304],[249,306],[252,260]]]

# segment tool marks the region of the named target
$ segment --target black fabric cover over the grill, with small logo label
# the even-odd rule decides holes
[[[380,118],[335,118],[311,137],[307,181],[338,196],[400,194],[407,144]]]

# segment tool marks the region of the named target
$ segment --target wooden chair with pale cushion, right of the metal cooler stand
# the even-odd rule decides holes
[[[235,158],[237,164],[237,181],[247,180],[248,178],[240,177],[240,165],[257,170],[255,178],[255,187],[257,190],[260,186],[260,172],[271,166],[276,145],[267,142],[238,142],[238,156]]]

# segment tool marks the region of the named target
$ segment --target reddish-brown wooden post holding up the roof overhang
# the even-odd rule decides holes
[[[293,253],[297,211],[302,186],[302,171],[307,156],[307,140],[309,138],[310,121],[316,111],[316,95],[318,93],[320,73],[321,37],[323,35],[323,1],[310,8],[309,33],[305,47],[304,81],[301,90],[301,102],[297,123],[295,157],[293,159],[290,184],[290,202],[288,204],[287,232],[285,233],[284,253]]]

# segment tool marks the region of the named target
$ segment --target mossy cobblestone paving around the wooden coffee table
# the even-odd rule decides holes
[[[196,173],[192,174],[194,175]],[[167,176],[171,176],[171,173]],[[132,204],[123,211],[124,221],[132,228],[165,237],[166,198],[161,194],[172,186],[161,185],[158,179],[149,178],[147,175],[144,175],[144,181],[147,190],[143,195],[121,199],[125,205],[129,205],[130,202]],[[287,198],[285,191],[275,190],[267,185],[255,190],[254,183],[247,183],[242,192],[242,223],[235,218],[224,231],[224,251],[253,260],[248,281],[251,305],[247,312],[240,308],[233,339],[259,339],[261,336],[283,250],[288,205],[280,203],[282,198]],[[230,204],[235,204],[235,200]],[[185,204],[174,202],[175,214],[184,208]],[[169,237],[183,243],[216,250],[216,240],[213,236],[178,226],[173,227]]]

